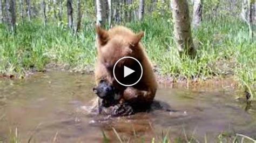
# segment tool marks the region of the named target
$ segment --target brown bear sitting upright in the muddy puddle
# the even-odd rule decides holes
[[[146,55],[144,47],[140,40],[144,36],[144,32],[133,33],[124,26],[115,26],[110,30],[104,30],[96,25],[97,32],[97,62],[95,67],[96,85],[106,81],[114,87],[120,98],[118,99],[118,107],[129,105],[134,112],[145,111],[150,107],[157,91],[157,81],[153,72],[153,68],[149,58]],[[113,76],[113,66],[118,59],[122,57],[136,58],[143,67],[143,76],[136,85],[123,86],[120,85]],[[135,61],[126,59],[119,62],[116,68],[124,65],[133,65]],[[132,69],[132,67],[131,67]],[[120,110],[120,109],[119,109]],[[126,107],[122,110],[131,110]],[[125,115],[127,112],[124,112]],[[120,114],[120,113],[118,113]]]

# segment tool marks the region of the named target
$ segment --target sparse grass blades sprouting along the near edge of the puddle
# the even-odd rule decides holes
[[[134,131],[134,136],[130,136],[129,138],[127,137],[123,137],[122,134],[118,133],[114,128],[112,128],[112,132],[114,133],[116,139],[118,142],[120,143],[126,143],[126,142],[130,142],[130,139],[134,139],[134,141],[136,142],[142,142],[144,143],[144,138],[143,137],[139,137],[138,135],[136,135],[135,131]],[[111,142],[110,139],[107,137],[107,135],[104,133],[104,131],[102,131],[102,134],[103,134],[103,142],[104,143],[108,143],[108,142]],[[9,137],[8,137],[8,141],[10,143],[19,143],[21,142],[21,139],[20,139],[20,135],[21,133],[18,132],[18,128],[16,127],[14,131],[10,130],[10,133],[9,133]],[[172,137],[171,134],[169,133],[169,130],[164,133],[164,131],[162,131],[162,135],[156,135],[156,137],[152,137],[152,140],[151,142],[152,143],[181,143],[181,142],[187,142],[187,143],[193,143],[193,142],[200,142],[197,137],[195,137],[195,134],[193,132],[192,135],[188,135],[185,130],[184,130],[184,134],[183,135],[180,135],[179,137],[176,137],[176,138],[170,138]],[[56,132],[56,134],[54,135],[54,137],[52,138],[51,141],[49,142],[57,142],[57,139],[58,139],[58,132]],[[31,135],[29,138],[28,138],[28,142],[36,142],[36,141],[33,141],[33,136]],[[205,143],[207,142],[212,142],[213,140],[209,140],[207,138],[207,135],[205,134],[204,136],[204,141]],[[232,132],[222,132],[220,133],[217,137],[215,137],[214,139],[215,142],[241,142],[241,143],[246,143],[246,142],[252,142],[252,143],[255,143],[256,140],[251,138],[251,137],[248,137],[246,135],[243,135],[243,134],[237,134],[237,133],[232,133]],[[0,141],[1,142],[1,141]]]

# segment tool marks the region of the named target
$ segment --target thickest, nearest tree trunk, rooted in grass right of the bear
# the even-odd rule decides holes
[[[172,0],[172,15],[178,51],[180,55],[185,53],[193,58],[196,56],[196,49],[191,34],[187,0]]]

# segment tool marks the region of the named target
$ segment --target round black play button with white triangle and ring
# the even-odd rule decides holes
[[[142,65],[136,58],[123,57],[114,64],[113,76],[120,85],[133,86],[139,82],[142,75]]]

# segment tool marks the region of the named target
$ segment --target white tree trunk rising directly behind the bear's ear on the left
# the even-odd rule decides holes
[[[105,25],[106,22],[106,6],[105,0],[96,0],[97,6],[97,25]]]

